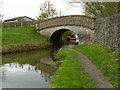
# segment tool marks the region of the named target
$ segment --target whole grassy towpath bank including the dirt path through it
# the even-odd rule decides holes
[[[71,48],[55,55],[59,67],[52,88],[118,88],[117,52],[97,44]]]

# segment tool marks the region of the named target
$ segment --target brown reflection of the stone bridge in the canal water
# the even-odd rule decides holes
[[[44,77],[46,82],[53,77],[57,69],[53,60],[51,58],[48,58],[49,56],[40,59],[39,63],[35,65],[37,71],[41,70],[41,75]]]

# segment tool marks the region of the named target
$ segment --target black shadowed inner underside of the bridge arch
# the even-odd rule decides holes
[[[62,38],[63,33],[65,33],[66,31],[70,31],[70,30],[60,29],[52,34],[50,41],[51,41],[53,47],[58,47],[58,48],[62,47],[61,38]]]

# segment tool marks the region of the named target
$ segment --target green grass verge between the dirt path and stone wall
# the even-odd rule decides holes
[[[75,49],[86,55],[108,78],[112,85],[118,88],[119,59],[117,53],[100,45],[80,45],[76,46]]]

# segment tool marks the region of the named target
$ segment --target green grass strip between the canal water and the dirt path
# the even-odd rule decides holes
[[[95,88],[96,82],[85,72],[74,52],[60,50],[55,55],[57,62],[62,62],[52,81],[52,88]]]

